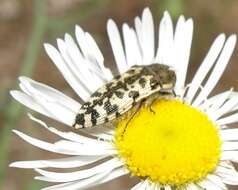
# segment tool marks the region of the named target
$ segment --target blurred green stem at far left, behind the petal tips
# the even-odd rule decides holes
[[[34,0],[34,17],[32,36],[29,40],[23,60],[20,75],[31,76],[36,64],[42,40],[46,31],[47,13],[46,1]],[[9,100],[5,109],[5,118],[0,138],[0,186],[4,182],[7,168],[8,151],[11,143],[11,130],[18,124],[23,112],[23,106],[17,104],[12,98]]]

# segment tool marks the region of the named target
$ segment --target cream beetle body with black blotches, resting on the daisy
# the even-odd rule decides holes
[[[156,93],[172,93],[175,82],[175,72],[166,65],[133,66],[94,92],[73,126],[78,129],[113,121]]]

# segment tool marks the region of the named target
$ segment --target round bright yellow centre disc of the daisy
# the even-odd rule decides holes
[[[217,126],[179,100],[157,100],[152,108],[155,114],[144,106],[117,125],[115,146],[131,173],[173,186],[205,178],[220,158]]]

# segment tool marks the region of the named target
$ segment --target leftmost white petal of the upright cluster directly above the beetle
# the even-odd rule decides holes
[[[128,70],[128,65],[126,63],[126,57],[119,30],[115,22],[111,19],[109,19],[107,23],[107,33],[112,46],[117,68],[120,73],[124,73]]]

